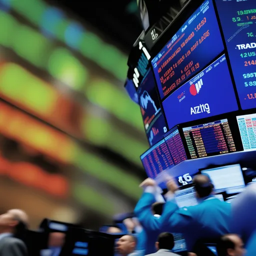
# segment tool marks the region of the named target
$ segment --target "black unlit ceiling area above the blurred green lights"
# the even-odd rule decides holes
[[[63,6],[128,52],[142,31],[136,0],[48,0]]]

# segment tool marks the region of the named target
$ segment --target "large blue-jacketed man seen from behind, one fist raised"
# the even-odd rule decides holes
[[[200,239],[219,238],[229,233],[231,217],[230,203],[212,196],[214,186],[208,176],[196,175],[193,183],[199,203],[178,208],[174,198],[174,192],[178,186],[174,179],[168,180],[167,201],[160,219],[161,228],[183,234],[188,251],[194,251],[194,245]]]

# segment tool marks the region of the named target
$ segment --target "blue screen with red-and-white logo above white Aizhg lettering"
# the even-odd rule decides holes
[[[169,127],[237,110],[225,55],[175,90],[162,105]]]

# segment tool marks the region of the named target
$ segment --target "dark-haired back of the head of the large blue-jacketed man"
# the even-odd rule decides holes
[[[193,178],[196,196],[198,198],[209,196],[213,192],[213,184],[210,178],[203,174],[195,175]]]

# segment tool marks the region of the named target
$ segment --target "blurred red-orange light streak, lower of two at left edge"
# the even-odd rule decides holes
[[[49,174],[29,162],[10,162],[0,154],[0,175],[5,175],[29,187],[43,190],[49,194],[66,197],[68,181],[58,174]]]

